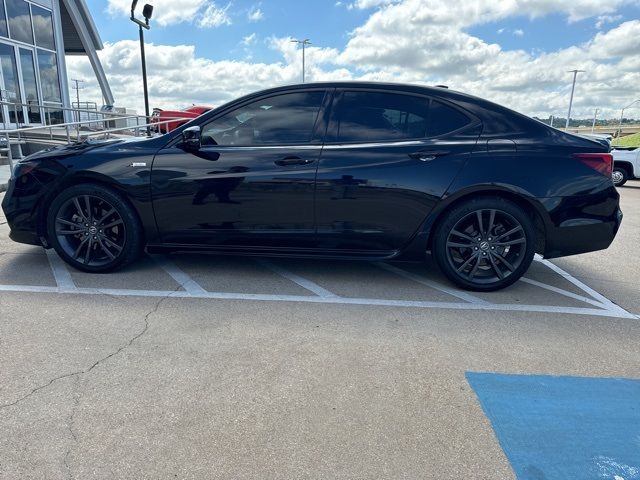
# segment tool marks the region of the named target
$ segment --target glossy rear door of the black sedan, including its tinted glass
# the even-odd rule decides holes
[[[338,91],[316,178],[320,246],[400,250],[468,159],[480,125],[422,95]]]

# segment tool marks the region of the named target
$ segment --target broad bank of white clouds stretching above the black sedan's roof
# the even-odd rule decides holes
[[[431,0],[430,8],[426,9],[422,0],[384,2],[352,32],[343,48],[310,46],[307,78],[447,84],[529,115],[546,117],[566,114],[572,80],[567,71],[578,68],[586,73],[578,77],[575,115],[591,115],[598,107],[603,116],[612,118],[619,115],[621,106],[638,95],[640,20],[620,25],[613,20],[612,25],[603,25],[591,40],[548,53],[506,51],[498,44],[467,33],[467,29],[518,16],[523,11],[531,16],[559,12],[568,21],[578,15],[594,18],[614,15],[615,8],[622,3],[622,0],[611,0],[605,5],[596,0],[477,0],[471,8],[463,0]],[[515,34],[513,30],[504,31]],[[254,42],[257,37],[252,37],[244,37],[242,43]],[[153,105],[216,105],[252,90],[298,82],[300,49],[289,38],[271,38],[268,44],[281,54],[280,61],[253,63],[249,56],[245,61],[212,61],[196,57],[193,46],[150,45]],[[133,105],[140,110],[137,43],[107,44],[101,58],[117,104]],[[68,62],[70,77],[92,77],[86,60],[69,57]],[[87,87],[85,95],[90,96],[91,84]],[[95,84],[92,95],[100,98]]]

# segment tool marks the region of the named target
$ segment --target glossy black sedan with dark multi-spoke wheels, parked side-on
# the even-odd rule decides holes
[[[148,251],[349,259],[428,252],[496,290],[607,248],[622,214],[606,142],[413,85],[322,83],[223,105],[167,135],[32,155],[3,208],[17,242],[107,272]]]

